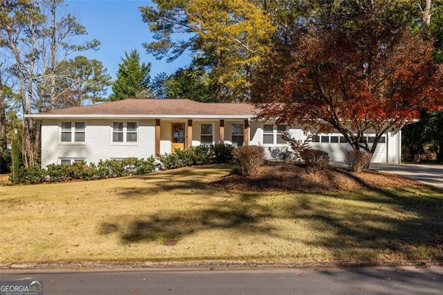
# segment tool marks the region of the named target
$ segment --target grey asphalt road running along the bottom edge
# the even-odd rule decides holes
[[[0,271],[50,294],[443,294],[443,267]]]

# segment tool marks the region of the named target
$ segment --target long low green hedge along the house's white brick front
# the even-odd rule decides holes
[[[97,164],[75,162],[73,164],[50,164],[46,169],[37,167],[20,168],[16,184],[41,184],[42,182],[61,182],[73,179],[93,180],[142,175],[159,169],[175,169],[186,166],[199,166],[211,163],[232,161],[231,145],[196,146],[188,150],[176,150],[174,154],[165,154],[159,159],[126,158],[122,161],[100,160]],[[11,181],[14,181],[11,178]]]

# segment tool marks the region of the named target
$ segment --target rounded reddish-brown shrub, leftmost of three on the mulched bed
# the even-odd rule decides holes
[[[233,151],[239,173],[244,176],[251,176],[257,173],[257,170],[263,164],[263,148],[257,145],[237,147]]]

